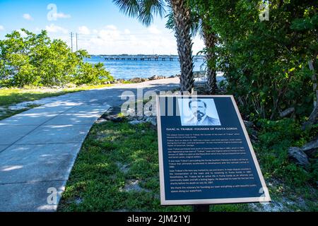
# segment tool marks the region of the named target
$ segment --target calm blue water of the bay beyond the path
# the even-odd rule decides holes
[[[122,56],[119,56],[122,57]],[[133,56],[127,56],[133,57]],[[140,59],[140,56],[136,56],[136,58]],[[177,59],[173,59],[173,61],[162,61],[159,57],[158,61],[134,61],[134,60],[105,60],[105,57],[101,56],[92,56],[90,59],[86,59],[87,62],[90,63],[98,63],[102,62],[105,64],[105,68],[107,71],[110,71],[114,78],[148,78],[154,75],[157,76],[175,76],[180,73],[179,61]],[[202,71],[204,69],[203,59],[198,59],[198,61],[194,62],[194,71]]]

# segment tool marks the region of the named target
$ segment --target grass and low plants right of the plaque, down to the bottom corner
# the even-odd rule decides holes
[[[258,122],[259,142],[254,150],[266,182],[271,182],[269,192],[274,201],[285,198],[285,210],[318,211],[317,157],[311,158],[309,169],[304,169],[288,159],[288,148],[302,146],[317,136],[317,126],[302,131],[295,119]],[[316,162],[316,163],[315,163]]]

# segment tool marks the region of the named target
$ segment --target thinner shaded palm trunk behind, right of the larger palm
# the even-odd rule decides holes
[[[214,55],[214,47],[216,46],[216,34],[213,32],[208,32],[208,28],[204,26],[203,28],[203,37],[204,37],[204,44],[206,45],[207,52],[206,52],[206,61],[208,63],[207,70],[206,70],[206,77],[207,77],[207,86],[208,86],[208,93],[209,94],[216,94],[216,61]]]

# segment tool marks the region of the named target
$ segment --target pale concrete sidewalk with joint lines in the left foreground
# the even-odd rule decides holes
[[[0,211],[56,210],[47,198],[56,189],[59,202],[81,144],[109,107],[52,102],[0,121]]]

